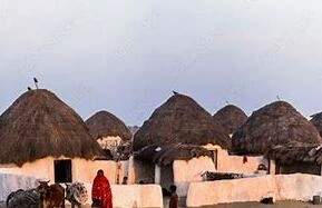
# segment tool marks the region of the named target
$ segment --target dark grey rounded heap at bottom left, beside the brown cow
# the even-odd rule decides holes
[[[18,189],[10,192],[6,200],[7,208],[39,208],[40,197],[36,189]]]

